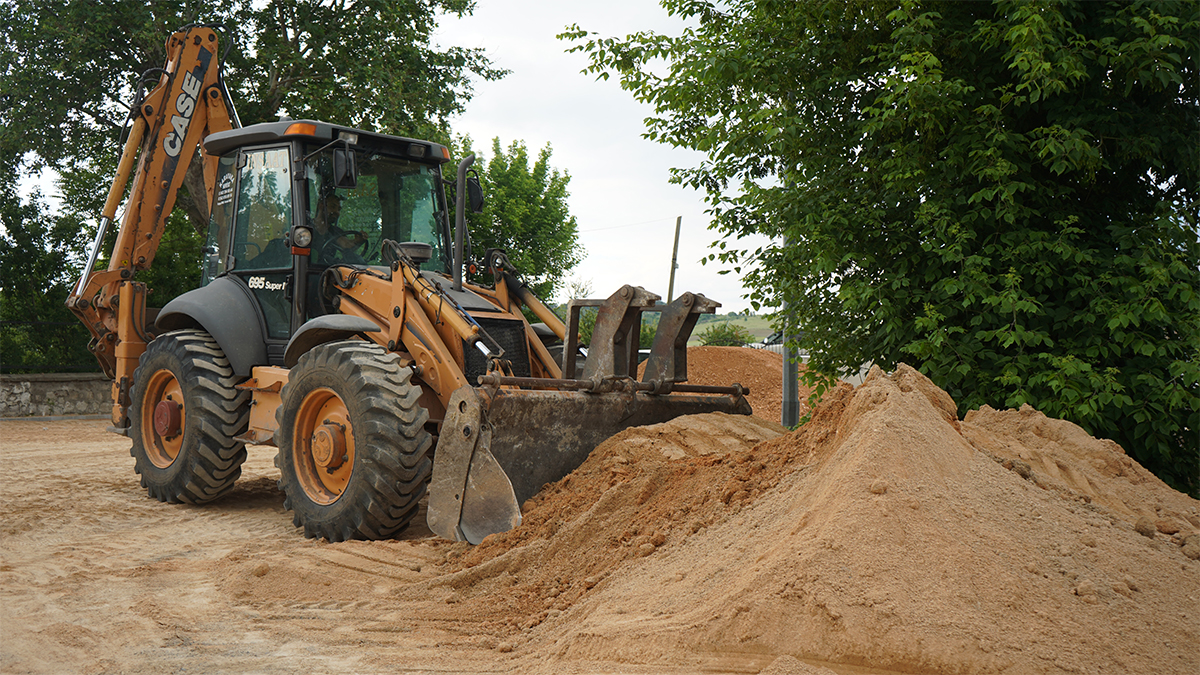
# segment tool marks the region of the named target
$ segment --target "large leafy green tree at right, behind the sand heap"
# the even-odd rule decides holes
[[[907,360],[1198,494],[1200,4],[662,4],[695,26],[564,37],[707,154],[713,259],[811,368]]]

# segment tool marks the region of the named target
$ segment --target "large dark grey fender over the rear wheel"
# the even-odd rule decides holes
[[[220,276],[167,303],[155,319],[160,331],[203,328],[221,345],[234,375],[246,377],[256,365],[266,365],[266,340],[258,301],[235,277]]]

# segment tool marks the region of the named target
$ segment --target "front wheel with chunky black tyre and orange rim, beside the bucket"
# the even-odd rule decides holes
[[[385,539],[408,526],[433,470],[420,395],[378,345],[329,342],[300,357],[275,413],[275,465],[306,537]]]

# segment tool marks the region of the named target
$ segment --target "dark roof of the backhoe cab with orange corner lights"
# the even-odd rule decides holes
[[[283,119],[244,126],[241,129],[230,129],[229,131],[218,131],[204,139],[204,150],[209,155],[220,156],[245,145],[258,145],[294,138],[310,138],[317,143],[330,143],[335,138],[347,138],[352,148],[386,148],[401,156],[439,165],[450,161],[450,150],[439,143],[362,131],[361,129],[338,126],[317,120]]]

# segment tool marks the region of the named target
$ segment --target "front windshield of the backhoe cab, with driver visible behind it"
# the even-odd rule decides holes
[[[311,151],[311,150],[310,150]],[[311,264],[384,264],[384,239],[433,246],[422,269],[445,271],[448,245],[437,167],[355,151],[358,186],[335,189],[329,151],[308,161]]]

